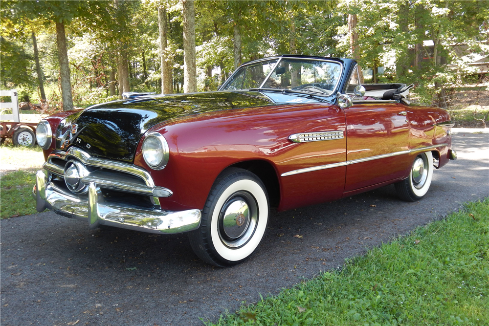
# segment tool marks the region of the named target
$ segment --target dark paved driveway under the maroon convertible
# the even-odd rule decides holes
[[[204,264],[186,235],[90,230],[51,212],[1,221],[1,325],[202,325],[259,293],[336,268],[345,258],[489,196],[489,135],[459,133],[459,159],[435,171],[420,202],[393,186],[272,213],[249,261]],[[294,237],[299,235],[300,237]]]

